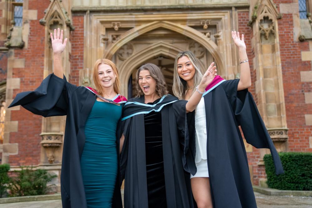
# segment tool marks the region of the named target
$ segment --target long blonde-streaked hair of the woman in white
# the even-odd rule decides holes
[[[178,53],[178,55],[174,61],[172,90],[173,90],[174,96],[178,97],[180,100],[184,100],[185,93],[188,89],[186,81],[183,80],[181,77],[179,77],[179,74],[178,74],[178,59],[181,58],[182,56],[187,56],[195,68],[195,74],[193,77],[193,80],[194,80],[193,86],[194,87],[193,87],[192,94],[196,90],[195,86],[199,85],[199,83],[202,79],[202,73],[200,72],[199,63],[198,63],[198,60],[196,59],[195,55],[191,51],[183,51],[183,52]]]

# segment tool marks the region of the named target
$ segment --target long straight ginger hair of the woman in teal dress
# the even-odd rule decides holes
[[[104,96],[104,89],[100,83],[99,76],[98,76],[98,68],[99,68],[100,64],[107,64],[113,69],[113,71],[116,75],[116,79],[115,79],[115,83],[114,83],[114,91],[117,94],[120,94],[120,79],[119,79],[117,67],[111,60],[108,60],[108,59],[98,59],[94,64],[93,81],[95,84],[96,91],[99,93],[100,96]]]

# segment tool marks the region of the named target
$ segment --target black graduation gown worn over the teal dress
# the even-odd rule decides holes
[[[22,105],[28,111],[44,117],[65,116],[66,128],[61,168],[61,197],[64,208],[86,208],[85,191],[80,169],[80,157],[85,145],[85,122],[90,114],[96,95],[85,87],[77,87],[54,74],[46,77],[34,91],[16,95],[9,107]],[[123,105],[123,104],[122,104]],[[119,147],[121,119],[116,133]],[[118,164],[119,164],[119,148]],[[119,165],[118,165],[119,169]],[[122,207],[118,171],[113,207]]]

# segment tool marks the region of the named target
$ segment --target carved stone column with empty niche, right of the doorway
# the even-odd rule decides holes
[[[285,100],[278,35],[278,13],[271,0],[256,5],[250,25],[253,27],[252,46],[256,70],[257,106],[278,152],[288,150]],[[270,151],[261,149],[264,154]]]

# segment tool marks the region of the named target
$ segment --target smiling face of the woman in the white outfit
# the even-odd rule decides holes
[[[181,56],[177,61],[178,75],[184,81],[192,80],[195,75],[195,67],[187,56]]]

